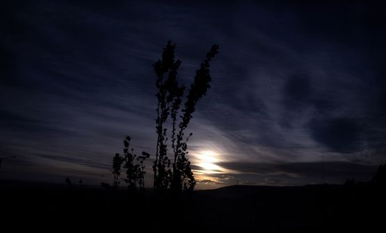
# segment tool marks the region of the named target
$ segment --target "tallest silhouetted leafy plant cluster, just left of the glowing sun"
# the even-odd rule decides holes
[[[177,81],[177,70],[181,65],[180,60],[175,60],[175,44],[170,41],[163,49],[162,58],[154,63],[156,73],[156,97],[158,105],[156,108],[156,159],[153,164],[154,171],[154,191],[166,190],[171,188],[174,191],[188,191],[195,187],[195,178],[191,170],[191,162],[188,160],[187,142],[188,137],[184,136],[184,131],[195,112],[195,105],[210,88],[211,76],[209,74],[209,62],[218,53],[218,45],[211,47],[207,57],[201,63],[200,69],[196,71],[193,83],[186,96],[184,108],[181,110],[181,121],[177,129],[177,115],[182,105],[185,86],[179,85]],[[168,128],[166,121],[171,116],[171,147],[172,162],[168,157]]]

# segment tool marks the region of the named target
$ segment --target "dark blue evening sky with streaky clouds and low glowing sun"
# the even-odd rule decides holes
[[[386,162],[386,8],[360,1],[12,1],[0,9],[0,179],[111,183],[156,148],[168,40],[211,89],[188,131],[198,189],[370,180]],[[122,184],[124,185],[124,184]]]

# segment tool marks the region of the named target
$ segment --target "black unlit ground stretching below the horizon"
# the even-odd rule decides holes
[[[173,232],[383,232],[385,191],[362,185],[232,186],[190,196],[1,185],[1,225]],[[379,228],[380,227],[380,228]],[[136,230],[137,232],[138,230]]]

